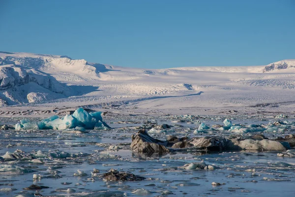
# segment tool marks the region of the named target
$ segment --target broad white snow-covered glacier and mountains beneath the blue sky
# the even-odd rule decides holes
[[[174,109],[253,111],[253,106],[264,106],[268,111],[294,112],[294,94],[295,60],[267,66],[142,69],[67,56],[0,52],[1,115],[28,106],[168,113]]]

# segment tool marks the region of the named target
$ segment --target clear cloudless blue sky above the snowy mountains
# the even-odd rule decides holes
[[[295,59],[295,0],[0,0],[0,51],[116,66]]]

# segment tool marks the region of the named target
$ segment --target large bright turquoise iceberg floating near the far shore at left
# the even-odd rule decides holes
[[[23,119],[15,125],[15,130],[65,130],[75,129],[78,131],[85,131],[89,129],[107,130],[111,129],[101,117],[101,112],[88,113],[83,108],[78,108],[72,115],[65,115],[62,118],[54,115],[38,123],[31,123],[28,119]]]

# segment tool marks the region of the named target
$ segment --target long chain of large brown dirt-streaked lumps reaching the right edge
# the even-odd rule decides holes
[[[256,134],[248,138],[224,138],[220,136],[187,137],[177,138],[168,136],[166,141],[155,139],[148,135],[144,129],[132,135],[131,150],[137,153],[145,154],[163,154],[179,149],[206,150],[206,151],[223,151],[223,150],[257,150],[257,151],[284,151],[290,149],[294,136],[280,138],[276,140],[267,139],[262,134]]]

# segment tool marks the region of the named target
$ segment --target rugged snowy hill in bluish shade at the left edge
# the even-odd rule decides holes
[[[69,88],[35,69],[0,66],[0,106],[64,98]]]

